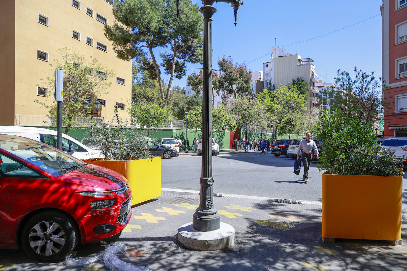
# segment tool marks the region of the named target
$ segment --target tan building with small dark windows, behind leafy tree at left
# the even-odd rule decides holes
[[[116,76],[107,79],[112,82],[104,91],[108,93],[94,97],[101,102],[99,117],[112,116],[118,105],[120,115],[129,119],[131,61],[116,56],[103,29],[114,22],[114,2],[117,0],[2,0],[0,125],[44,125],[48,109],[34,100],[55,102],[52,86],[42,85],[41,79],[54,76],[55,69],[49,64],[53,59],[62,60],[56,50],[63,47],[115,69]]]

